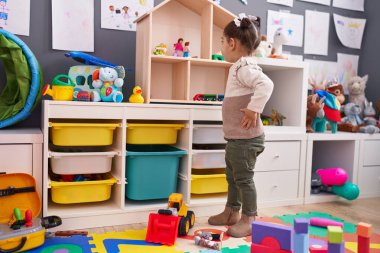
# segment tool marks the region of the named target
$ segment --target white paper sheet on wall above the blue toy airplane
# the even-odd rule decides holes
[[[94,52],[94,0],[52,0],[53,49]]]

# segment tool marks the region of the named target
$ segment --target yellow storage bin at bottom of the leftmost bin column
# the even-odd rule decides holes
[[[104,180],[82,182],[51,181],[51,198],[58,204],[99,202],[111,197],[111,187],[117,180],[105,174]]]

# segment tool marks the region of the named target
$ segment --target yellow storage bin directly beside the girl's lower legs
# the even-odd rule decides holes
[[[193,169],[191,193],[207,194],[227,192],[228,185],[224,169]]]

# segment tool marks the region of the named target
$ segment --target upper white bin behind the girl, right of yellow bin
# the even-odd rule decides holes
[[[223,144],[223,125],[194,125],[193,143],[195,144]]]

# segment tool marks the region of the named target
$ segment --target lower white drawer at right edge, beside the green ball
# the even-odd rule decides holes
[[[361,168],[358,184],[361,194],[380,194],[380,166]]]

